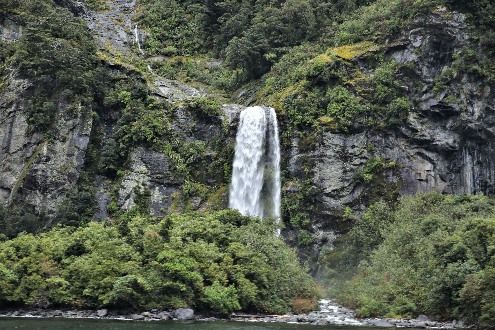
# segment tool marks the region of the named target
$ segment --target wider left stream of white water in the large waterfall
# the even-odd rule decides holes
[[[229,207],[243,215],[263,217],[263,154],[266,130],[265,111],[250,106],[241,111],[236,137]]]

